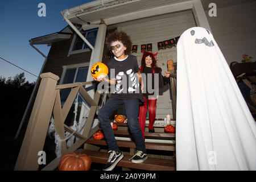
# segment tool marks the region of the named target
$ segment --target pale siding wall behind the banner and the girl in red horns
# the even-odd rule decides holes
[[[177,60],[176,47],[158,51],[157,43],[180,36],[185,30],[195,27],[192,10],[179,13],[164,14],[150,18],[134,20],[126,23],[119,23],[115,26],[118,30],[125,31],[134,45],[138,45],[138,64],[141,66],[141,44],[152,43],[152,52],[158,52],[158,67],[162,68],[162,75],[167,71],[167,60]],[[164,118],[167,114],[172,115],[170,91],[168,85],[162,89],[162,93],[156,103],[156,118]],[[172,116],[171,116],[172,117]]]

